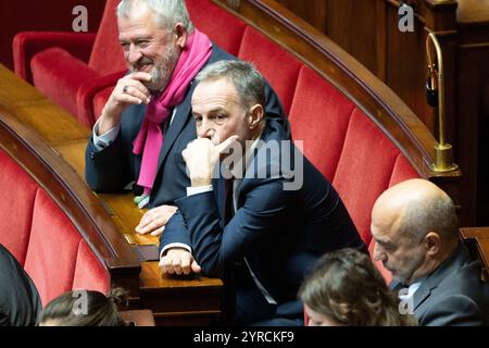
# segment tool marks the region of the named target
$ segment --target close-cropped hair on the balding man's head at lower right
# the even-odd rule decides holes
[[[459,219],[448,195],[411,201],[406,207],[401,233],[414,241],[421,241],[429,232],[437,232],[449,239],[457,236]]]

